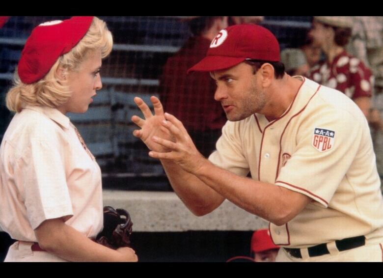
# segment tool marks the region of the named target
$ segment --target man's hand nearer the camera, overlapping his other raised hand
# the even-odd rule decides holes
[[[160,136],[153,136],[152,140],[164,148],[168,152],[150,151],[149,156],[158,159],[170,160],[185,171],[195,174],[205,160],[198,152],[184,125],[176,117],[169,113],[164,113],[164,119],[161,120],[161,125],[175,138],[168,140]]]

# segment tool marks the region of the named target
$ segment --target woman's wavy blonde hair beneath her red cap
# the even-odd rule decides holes
[[[101,50],[101,57],[107,57],[113,46],[112,35],[104,21],[93,18],[85,36],[72,50],[60,56],[48,74],[31,84],[22,83],[17,73],[14,74],[13,86],[6,95],[6,106],[10,111],[20,112],[27,105],[58,107],[72,95],[69,87],[60,83],[57,69],[64,72],[78,70],[80,64],[95,50]]]

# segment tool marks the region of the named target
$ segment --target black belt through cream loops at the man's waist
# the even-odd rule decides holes
[[[339,251],[360,247],[365,245],[365,243],[366,238],[364,236],[350,237],[335,241],[336,248]],[[284,248],[284,250],[286,250],[293,257],[302,258],[301,249],[299,248]],[[327,249],[326,243],[309,247],[307,250],[310,257],[322,256],[330,253]]]

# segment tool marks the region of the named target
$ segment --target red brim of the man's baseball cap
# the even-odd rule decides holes
[[[188,69],[187,74],[193,71],[215,71],[227,69],[245,60],[246,58],[244,57],[206,56],[197,64]]]

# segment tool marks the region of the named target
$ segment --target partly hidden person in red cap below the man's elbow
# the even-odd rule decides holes
[[[274,262],[279,246],[276,246],[270,236],[269,229],[254,231],[251,237],[251,256],[255,262]]]

